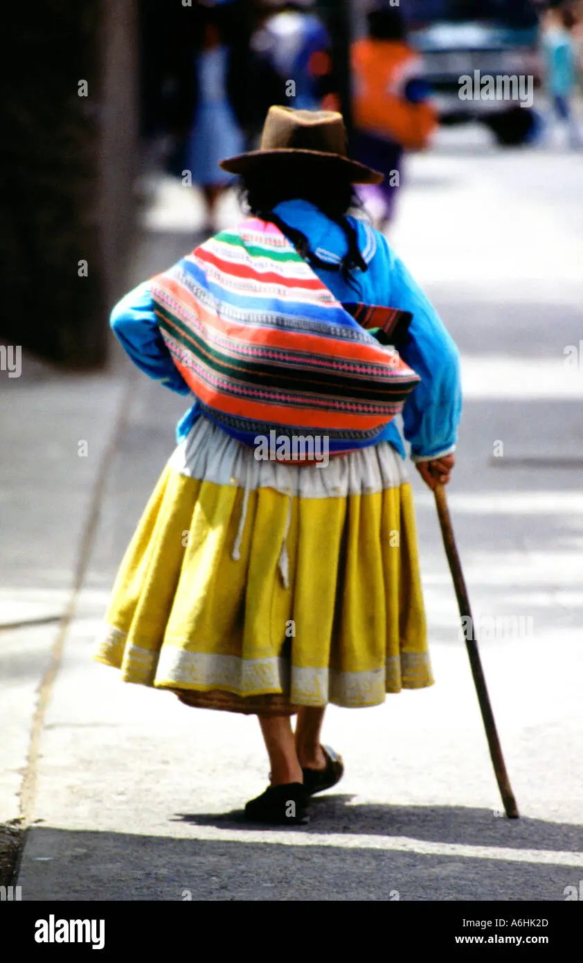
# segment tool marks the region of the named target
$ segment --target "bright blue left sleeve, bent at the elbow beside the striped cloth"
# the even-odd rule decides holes
[[[148,281],[139,284],[115,305],[110,324],[122,348],[141,371],[179,395],[190,394],[188,384],[165,346]]]

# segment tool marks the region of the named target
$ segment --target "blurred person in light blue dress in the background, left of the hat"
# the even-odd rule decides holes
[[[185,165],[205,202],[205,230],[214,233],[216,205],[232,178],[219,169],[221,157],[244,149],[245,140],[231,95],[233,51],[226,42],[229,4],[199,7],[200,47],[194,56],[194,106]],[[241,78],[236,81],[241,87]]]

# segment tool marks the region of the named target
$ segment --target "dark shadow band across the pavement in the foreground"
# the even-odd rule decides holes
[[[562,901],[566,887],[578,886],[580,867],[545,863],[550,854],[543,853],[537,862],[532,851],[508,858],[507,847],[581,846],[579,826],[505,823],[485,810],[365,805],[350,811],[346,800],[322,800],[307,829],[264,836],[261,827],[250,827],[248,841],[232,816],[182,818],[217,827],[216,837],[205,839],[37,825],[29,830],[18,885],[23,900],[47,901]],[[320,843],[314,833],[337,834],[338,844],[334,836]],[[362,846],[355,833],[368,834]],[[378,846],[371,845],[370,834]],[[452,843],[457,846],[447,848]],[[461,844],[493,849],[480,857]],[[495,848],[506,852],[496,854]]]

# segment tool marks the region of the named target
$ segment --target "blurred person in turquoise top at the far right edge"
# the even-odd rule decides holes
[[[577,50],[572,37],[575,18],[570,10],[549,8],[543,21],[545,84],[550,105],[550,134],[554,121],[568,135],[572,148],[581,146],[579,121],[573,100],[577,88]]]

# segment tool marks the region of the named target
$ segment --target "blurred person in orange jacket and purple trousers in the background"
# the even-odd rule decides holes
[[[382,230],[393,219],[403,152],[430,143],[438,116],[428,102],[420,58],[407,42],[405,20],[397,8],[368,13],[368,37],[352,45],[350,60],[354,154],[385,174],[382,185],[361,196],[371,208],[378,206],[375,220]]]

